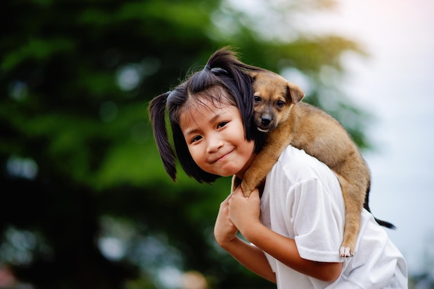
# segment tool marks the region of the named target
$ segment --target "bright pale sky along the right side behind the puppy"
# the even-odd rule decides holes
[[[309,16],[312,29],[338,31],[371,57],[345,58],[345,90],[377,121],[367,132],[376,151],[370,207],[408,262],[410,272],[434,264],[434,1],[339,1]]]

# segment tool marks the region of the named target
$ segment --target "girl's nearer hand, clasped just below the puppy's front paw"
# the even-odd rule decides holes
[[[241,186],[229,198],[229,218],[248,239],[248,233],[257,225],[260,215],[259,190],[254,189],[249,198],[245,198]]]

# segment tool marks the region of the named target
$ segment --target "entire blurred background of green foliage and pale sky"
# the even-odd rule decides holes
[[[351,132],[409,287],[434,288],[434,4],[357,2],[2,3],[0,288],[275,288],[214,241],[230,179],[174,184],[148,121],[226,45]]]

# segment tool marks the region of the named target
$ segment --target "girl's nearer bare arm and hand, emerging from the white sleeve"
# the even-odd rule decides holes
[[[263,252],[274,256],[293,270],[321,281],[332,282],[338,279],[342,271],[342,263],[302,259],[295,240],[277,234],[262,225],[259,221],[259,212],[259,192],[257,190],[252,192],[250,198],[244,198],[243,192],[238,188],[229,199],[230,220],[247,240]]]

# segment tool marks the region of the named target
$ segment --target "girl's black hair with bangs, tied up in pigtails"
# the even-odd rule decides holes
[[[194,177],[198,182],[214,182],[219,176],[205,172],[193,161],[180,128],[179,116],[189,98],[208,96],[214,102],[228,101],[219,99],[220,94],[207,93],[210,89],[221,88],[233,99],[229,99],[241,113],[244,125],[245,139],[254,141],[255,151],[263,143],[263,134],[257,131],[253,124],[253,89],[252,78],[246,73],[248,69],[256,69],[243,64],[236,57],[236,53],[225,47],[219,49],[209,58],[205,68],[194,73],[173,91],[156,96],[150,101],[150,120],[153,125],[155,142],[162,158],[164,168],[173,181],[176,179],[175,152],[168,140],[166,130],[165,110],[171,123],[173,144],[177,158],[185,173]],[[218,90],[216,90],[218,91]]]

